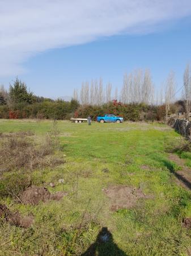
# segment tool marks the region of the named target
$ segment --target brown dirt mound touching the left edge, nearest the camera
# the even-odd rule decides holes
[[[0,204],[0,218],[11,225],[29,228],[33,223],[33,216],[22,217],[18,212],[12,213],[6,205]]]

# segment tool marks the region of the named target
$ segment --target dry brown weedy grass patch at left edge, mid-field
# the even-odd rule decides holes
[[[1,134],[0,172],[53,167],[64,162],[54,155],[55,139],[47,134],[38,144],[31,135],[30,132]]]

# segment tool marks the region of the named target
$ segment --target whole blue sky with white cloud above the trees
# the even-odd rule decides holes
[[[18,2],[22,5],[23,0]],[[50,1],[42,2],[45,4]],[[68,9],[75,7],[70,5],[75,1],[55,2],[57,5],[50,7],[54,7],[57,14],[58,7],[63,10],[65,6]],[[65,5],[62,5],[64,2]],[[10,10],[6,8],[7,1],[0,0],[4,7],[5,24],[4,28],[0,28],[0,32],[3,32],[0,53],[1,56],[5,56],[3,59],[6,59],[5,63],[0,60],[0,84],[9,88],[9,82],[18,75],[35,94],[56,98],[71,96],[74,88],[80,88],[82,81],[91,81],[99,77],[103,78],[104,84],[111,82],[113,88],[117,86],[120,90],[125,72],[137,68],[150,68],[156,88],[160,87],[171,70],[176,73],[177,88],[182,86],[185,65],[191,62],[190,1],[183,0],[181,6],[176,0],[168,1],[171,5],[166,5],[165,1],[158,1],[160,5],[149,7],[148,4],[155,1],[141,1],[141,14],[148,17],[143,19],[139,18],[141,14],[137,12],[140,3],[138,0],[120,0],[124,8],[118,8],[119,10],[116,10],[115,1],[105,0],[105,9],[97,3],[95,5],[95,1],[89,1],[92,3],[90,6],[86,6],[87,1],[79,2],[84,4],[79,7],[82,16],[84,9],[88,9],[92,14],[95,10],[104,13],[104,18],[99,18],[102,19],[103,26],[94,15],[86,17],[84,22],[82,19],[82,24],[70,18],[62,20],[61,15],[60,20],[57,20],[57,16],[48,19],[48,22],[44,22],[43,19],[43,26],[37,22],[23,25],[22,18],[26,17],[18,18],[18,7],[13,6]],[[126,5],[126,2],[129,4]],[[24,6],[29,11],[28,15],[36,14],[40,6],[36,2],[31,11],[28,3],[29,1],[26,1]],[[108,5],[112,6],[109,10]],[[171,8],[172,5],[176,6],[175,10]],[[76,10],[71,10],[75,14]],[[11,11],[16,11],[16,14],[11,21],[13,26],[15,23],[15,27],[10,29],[11,22],[6,23],[5,19],[9,18]],[[47,9],[43,13],[45,18],[49,11]],[[128,16],[129,12],[131,18]],[[38,14],[36,15],[37,19]],[[39,13],[39,16],[42,14]],[[87,18],[90,26],[87,26]],[[54,24],[55,20],[57,22]],[[70,24],[71,31],[68,28]],[[14,32],[14,28],[18,30],[17,33]],[[57,28],[59,29],[56,33],[54,31]]]

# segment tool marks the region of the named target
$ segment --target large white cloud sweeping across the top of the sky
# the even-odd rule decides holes
[[[0,0],[0,76],[47,49],[149,31],[191,14],[190,0]]]

